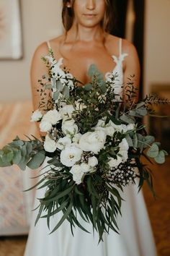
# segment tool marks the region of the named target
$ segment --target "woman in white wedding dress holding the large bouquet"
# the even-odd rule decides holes
[[[42,43],[32,59],[31,81],[35,109],[38,108],[37,80],[48,72],[41,56],[47,56],[49,48],[53,49],[58,61],[58,72],[63,74],[67,67],[69,73],[84,84],[89,81],[87,70],[96,64],[99,71],[105,74],[117,73],[117,93],[121,94],[121,85],[128,82],[128,77],[135,74],[135,86],[140,80],[138,54],[133,44],[109,35],[112,23],[112,0],[74,0],[63,1],[63,25],[66,35]],[[79,68],[78,68],[79,67]],[[35,86],[36,85],[36,86]],[[50,97],[50,93],[49,93]],[[43,196],[42,189],[37,190],[35,197]],[[89,223],[82,226],[91,231],[87,234],[78,227],[71,234],[70,225],[65,221],[53,234],[50,234],[45,219],[40,219],[34,226],[37,211],[33,212],[30,234],[24,256],[155,256],[151,226],[148,221],[143,195],[138,194],[137,186],[125,188],[122,195],[122,218],[117,219],[120,234],[110,231],[104,234],[104,241],[98,244],[97,233],[92,233]],[[35,200],[35,207],[38,200]],[[51,230],[61,215],[51,219]]]

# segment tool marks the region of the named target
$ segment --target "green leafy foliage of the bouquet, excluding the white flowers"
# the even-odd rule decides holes
[[[51,52],[51,56],[54,58],[53,52]],[[123,200],[120,195],[120,190],[123,191],[122,185],[114,184],[114,181],[110,182],[107,179],[108,155],[117,158],[119,142],[125,137],[130,147],[128,158],[135,160],[133,163],[128,161],[127,165],[138,169],[138,189],[140,190],[143,186],[143,182],[147,182],[155,196],[152,171],[146,164],[142,163],[140,158],[144,156],[150,162],[153,159],[156,163],[164,163],[167,153],[165,150],[160,150],[160,143],[156,142],[153,136],[147,135],[142,119],[143,116],[152,113],[151,106],[153,104],[168,103],[168,100],[161,100],[156,96],[149,95],[143,101],[136,102],[135,97],[138,92],[134,87],[133,77],[130,77],[125,86],[124,98],[116,101],[117,95],[111,86],[112,82],[106,82],[103,74],[94,65],[89,68],[91,82],[84,86],[77,86],[82,84],[73,78],[75,86],[69,89],[67,84],[61,86],[60,76],[58,78],[53,77],[48,60],[43,58],[43,61],[50,70],[48,75],[43,75],[42,80],[39,80],[42,89],[37,91],[41,96],[39,107],[43,111],[48,111],[52,107],[58,109],[56,102],[61,93],[67,103],[74,106],[75,101],[80,101],[87,106],[81,110],[76,110],[74,113],[76,114],[76,123],[79,124],[79,132],[82,134],[92,131],[91,127],[97,125],[97,121],[104,116],[107,116],[106,124],[109,120],[112,120],[116,125],[135,124],[135,130],[124,133],[115,132],[115,140],[108,136],[107,146],[99,153],[99,167],[93,173],[84,174],[81,184],[73,182],[69,168],[61,163],[60,150],[57,149],[54,153],[45,152],[43,148],[44,137],[41,137],[40,140],[34,136],[32,138],[27,137],[28,140],[25,141],[16,137],[0,150],[0,166],[17,164],[22,170],[26,166],[36,169],[42,166],[46,156],[50,156],[50,160],[44,167],[43,176],[40,175],[42,178],[30,188],[45,188],[44,197],[39,198],[40,205],[38,206],[39,211],[35,225],[40,218],[46,218],[50,229],[50,218],[62,212],[62,218],[56,223],[50,234],[56,231],[65,220],[70,223],[72,234],[73,228],[76,226],[89,232],[77,218],[77,214],[79,214],[85,222],[91,223],[93,231],[98,232],[99,242],[101,242],[104,232],[109,234],[109,230],[112,229],[119,233],[117,214],[121,215]],[[113,82],[114,79],[115,77],[113,77]],[[54,93],[47,101],[46,97],[49,96],[49,90],[52,89],[55,89]],[[135,182],[134,179],[133,183],[135,184]]]

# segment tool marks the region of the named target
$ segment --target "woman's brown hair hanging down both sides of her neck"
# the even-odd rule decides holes
[[[107,33],[111,33],[113,27],[115,25],[114,19],[114,4],[113,0],[104,0],[106,3],[106,12],[104,14],[104,19],[101,22],[101,27]],[[63,26],[65,27],[66,32],[71,28],[73,25],[73,8],[68,8],[67,3],[68,0],[63,0],[63,10],[62,10],[62,19],[63,19]],[[75,0],[73,0],[74,4]]]

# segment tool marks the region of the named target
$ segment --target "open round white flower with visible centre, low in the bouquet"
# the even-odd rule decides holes
[[[77,161],[81,159],[82,150],[79,145],[73,144],[66,146],[64,150],[61,151],[61,163],[64,166],[73,166]]]

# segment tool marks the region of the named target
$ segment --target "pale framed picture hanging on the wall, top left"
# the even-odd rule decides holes
[[[0,0],[0,60],[22,58],[19,0]]]

